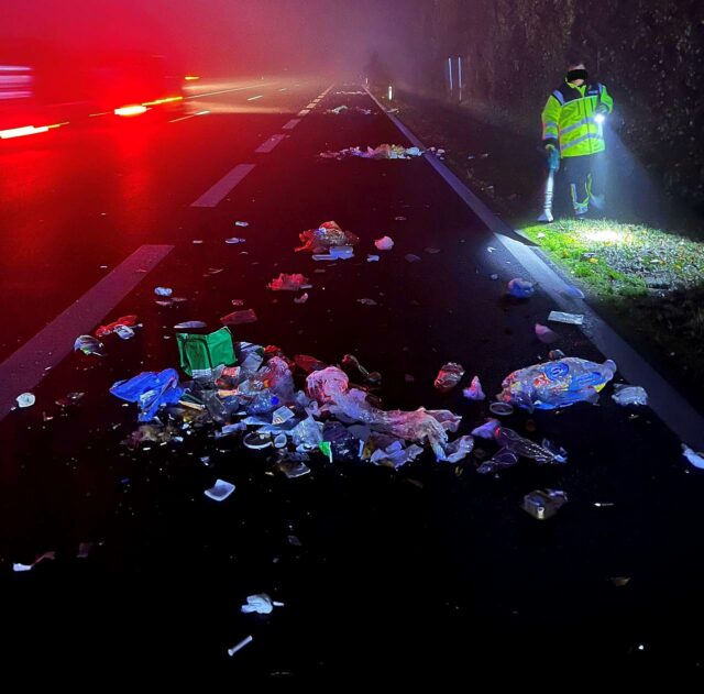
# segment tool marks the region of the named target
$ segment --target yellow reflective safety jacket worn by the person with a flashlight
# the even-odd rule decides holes
[[[601,107],[601,108],[600,108]],[[568,82],[556,89],[542,109],[542,143],[560,145],[560,155],[585,156],[606,148],[596,111],[610,113],[614,100],[600,82],[581,87]]]

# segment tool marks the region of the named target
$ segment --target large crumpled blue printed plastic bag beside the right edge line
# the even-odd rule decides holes
[[[529,411],[568,407],[581,401],[596,404],[600,392],[615,373],[616,364],[612,360],[596,364],[566,356],[509,374],[504,378],[503,390],[497,398]]]

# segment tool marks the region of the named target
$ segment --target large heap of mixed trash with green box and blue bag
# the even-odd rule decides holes
[[[140,430],[128,443],[176,440],[179,430],[215,427],[216,438],[241,436],[249,449],[273,448],[287,476],[309,472],[314,452],[330,462],[362,460],[398,469],[425,447],[437,461],[457,463],[473,449],[471,436],[450,441],[461,417],[449,410],[384,410],[371,392],[381,375],[352,355],[339,366],[308,355],[288,359],[276,346],[232,342],[227,327],[207,335],[178,333],[180,382],[174,368],[143,372],[110,393],[139,406]],[[215,366],[217,364],[217,366]],[[297,388],[296,382],[302,387]]]

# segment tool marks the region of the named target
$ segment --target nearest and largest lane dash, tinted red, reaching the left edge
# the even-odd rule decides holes
[[[16,405],[18,395],[34,388],[51,368],[70,354],[76,338],[89,333],[173,250],[173,245],[140,246],[2,362],[0,420]]]

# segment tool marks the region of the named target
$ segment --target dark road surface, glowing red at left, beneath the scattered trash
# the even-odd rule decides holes
[[[682,625],[704,617],[704,478],[650,408],[614,403],[612,383],[596,406],[498,418],[563,447],[566,463],[521,458],[484,475],[497,445],[481,438],[458,463],[425,444],[398,470],[314,451],[297,478],[272,445],[216,438],[223,422],[183,428],[162,410],[169,433],[125,443],[139,408],[112,385],[168,367],[189,382],[174,326],[205,321],[189,332],[208,334],[235,310],[257,317],[231,327],[235,342],[330,365],[354,355],[381,374],[366,385],[383,409],[461,416],[451,440],[493,417],[502,381],[550,350],[613,356],[579,327],[548,323],[561,309],[540,284],[529,299],[507,295],[530,269],[438,175],[435,154],[319,157],[413,145],[359,84],[286,73],[196,84],[177,109],[0,142],[4,659],[212,667],[233,684],[372,672],[439,683],[513,664],[540,676],[696,672],[701,629]],[[341,104],[371,113],[326,113]],[[359,236],[354,257],[295,251],[331,220]],[[375,247],[384,235],[392,250]],[[267,288],[280,273],[308,278],[307,301]],[[101,338],[105,356],[74,352],[76,338],[130,315],[132,339]],[[541,342],[535,323],[559,340]],[[465,375],[441,393],[447,362]],[[302,388],[306,374],[294,375]],[[474,375],[483,401],[463,397]],[[25,392],[35,403],[19,408]],[[216,480],[235,485],[220,503],[204,494]],[[538,520],[520,504],[546,488],[569,500]],[[283,606],[241,614],[261,593]]]

